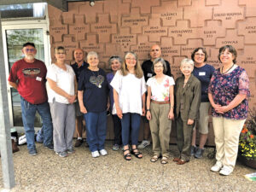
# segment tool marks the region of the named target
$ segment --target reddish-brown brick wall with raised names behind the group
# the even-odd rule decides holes
[[[207,63],[219,67],[218,49],[231,44],[238,50],[237,64],[250,78],[250,108],[256,106],[256,1],[105,0],[96,1],[94,7],[87,2],[69,3],[68,10],[49,5],[53,61],[57,45],[67,49],[67,62],[73,61],[75,48],[94,50],[100,55],[100,67],[108,71],[111,55],[132,50],[144,61],[150,46],[160,44],[177,77],[180,61],[196,47],[205,47]],[[213,143],[212,137],[209,142]]]

